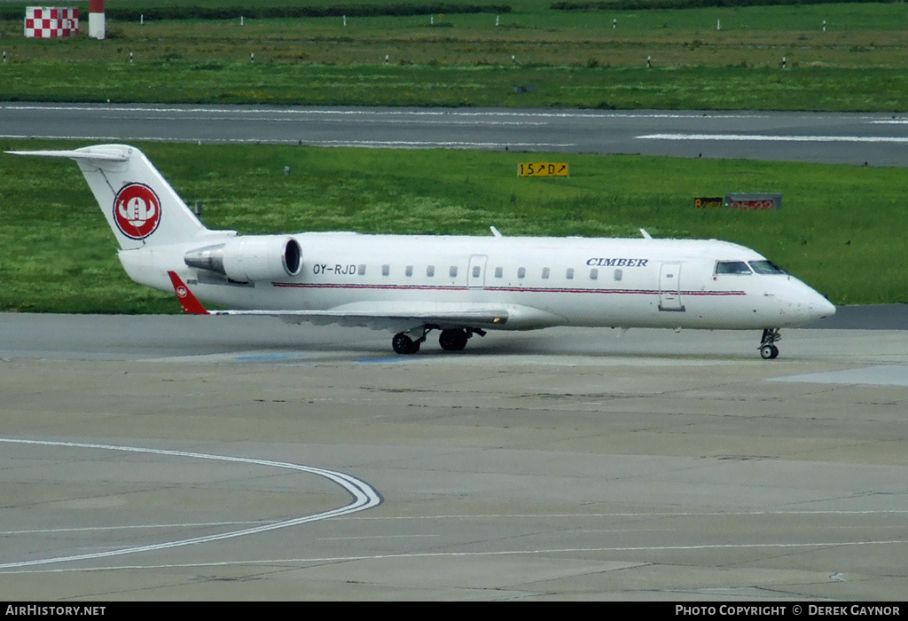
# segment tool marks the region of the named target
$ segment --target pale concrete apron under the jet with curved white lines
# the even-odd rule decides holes
[[[847,314],[847,313],[845,313]],[[0,597],[901,599],[908,330],[0,315]]]

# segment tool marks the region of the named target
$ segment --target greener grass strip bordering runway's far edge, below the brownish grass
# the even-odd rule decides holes
[[[676,110],[908,110],[908,70],[734,67],[558,68],[428,65],[48,64],[11,82],[9,101],[581,107]],[[721,84],[721,88],[716,88]],[[518,86],[532,92],[515,94]],[[11,86],[11,90],[15,85]]]

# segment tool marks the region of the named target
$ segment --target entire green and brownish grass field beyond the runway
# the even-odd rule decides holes
[[[903,3],[549,6],[532,0],[502,15],[350,17],[347,25],[337,16],[243,25],[112,19],[105,41],[25,39],[22,22],[7,19],[0,99],[908,110]],[[514,93],[529,84],[532,93]]]

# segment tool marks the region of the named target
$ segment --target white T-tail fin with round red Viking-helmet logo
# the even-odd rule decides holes
[[[99,144],[73,151],[8,153],[66,157],[78,163],[123,250],[189,242],[208,232],[170,183],[135,147]]]

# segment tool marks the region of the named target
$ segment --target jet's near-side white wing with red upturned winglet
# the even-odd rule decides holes
[[[370,301],[344,304],[325,311],[207,311],[175,272],[169,271],[168,274],[173,282],[173,290],[183,305],[183,312],[192,314],[277,317],[287,323],[337,323],[341,326],[394,332],[412,330],[427,324],[442,329],[530,330],[564,325],[566,322],[558,315],[519,304],[471,302]]]

